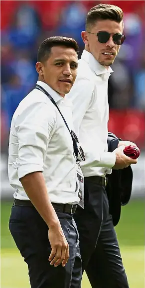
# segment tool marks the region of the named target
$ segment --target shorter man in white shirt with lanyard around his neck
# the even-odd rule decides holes
[[[20,102],[11,122],[8,176],[15,200],[9,229],[28,265],[31,288],[81,285],[73,219],[79,183],[73,141],[64,122],[73,129],[72,104],[65,94],[77,75],[77,52],[77,42],[71,38],[50,37],[42,42],[36,87]]]

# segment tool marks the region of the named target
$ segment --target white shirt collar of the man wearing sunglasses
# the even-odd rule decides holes
[[[101,74],[112,73],[113,72],[113,70],[112,70],[112,68],[110,66],[109,66],[108,69],[105,68],[103,65],[101,65],[94,58],[94,56],[90,52],[88,52],[86,50],[83,51],[81,58],[89,64],[89,66],[94,70],[96,75],[101,75]]]

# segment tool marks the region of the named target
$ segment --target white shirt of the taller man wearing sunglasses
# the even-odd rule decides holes
[[[73,102],[75,132],[84,150],[86,161],[81,163],[85,177],[112,172],[116,156],[109,153],[108,138],[108,79],[113,72],[100,65],[84,50],[78,65],[75,83],[67,94]]]

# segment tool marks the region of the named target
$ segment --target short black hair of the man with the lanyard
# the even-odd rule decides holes
[[[45,62],[51,53],[51,48],[54,46],[66,46],[68,48],[73,48],[76,53],[79,51],[79,46],[73,38],[63,37],[63,36],[53,36],[45,39],[38,49],[37,61]]]

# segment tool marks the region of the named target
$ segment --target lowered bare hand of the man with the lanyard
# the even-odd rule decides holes
[[[49,227],[48,239],[52,248],[49,256],[50,265],[57,267],[62,264],[64,267],[69,259],[69,245],[60,222],[53,227]]]

